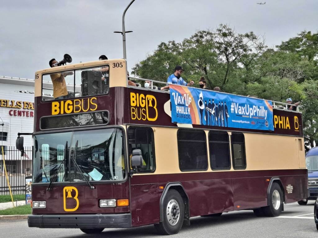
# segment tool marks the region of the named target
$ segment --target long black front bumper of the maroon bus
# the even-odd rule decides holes
[[[130,228],[131,214],[28,215],[28,225],[38,228]]]

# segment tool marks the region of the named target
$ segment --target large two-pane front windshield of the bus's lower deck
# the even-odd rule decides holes
[[[33,182],[123,180],[122,130],[107,128],[34,136]],[[78,166],[77,166],[78,165]]]

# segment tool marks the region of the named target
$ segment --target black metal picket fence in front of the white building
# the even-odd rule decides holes
[[[1,146],[0,146],[1,149]],[[25,194],[25,176],[32,175],[32,147],[24,147],[24,154],[14,146],[4,147],[4,161],[13,194]],[[0,151],[0,195],[9,195],[9,186],[4,172]]]

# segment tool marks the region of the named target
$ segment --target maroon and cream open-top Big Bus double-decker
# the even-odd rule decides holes
[[[63,99],[54,84],[43,86],[57,78]],[[265,107],[251,111],[235,95],[204,89],[190,100],[197,89],[170,84],[168,92],[149,81],[128,86],[125,59],[36,72],[29,227],[100,233],[154,224],[170,235],[194,216],[243,209],[278,216],[284,203],[307,198],[300,112],[260,99]],[[208,93],[232,97],[231,106],[204,102]]]

